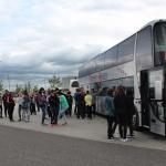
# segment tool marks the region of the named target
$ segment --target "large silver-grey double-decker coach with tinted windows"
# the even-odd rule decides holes
[[[154,20],[79,70],[80,86],[95,90],[96,112],[105,114],[106,89],[133,92],[135,125],[166,136],[166,20]]]

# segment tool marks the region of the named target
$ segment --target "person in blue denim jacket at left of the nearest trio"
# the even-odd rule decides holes
[[[113,123],[115,122],[115,107],[113,101],[113,91],[111,89],[107,90],[107,96],[105,97],[105,111],[107,118],[107,138],[114,139]]]

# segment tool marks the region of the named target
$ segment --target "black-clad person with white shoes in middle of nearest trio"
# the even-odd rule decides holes
[[[127,123],[128,123],[128,113],[127,113],[127,97],[125,94],[125,89],[118,86],[117,94],[114,97],[114,105],[117,112],[118,117],[118,129],[122,142],[127,142]]]

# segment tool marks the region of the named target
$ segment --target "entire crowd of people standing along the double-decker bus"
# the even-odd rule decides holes
[[[19,95],[18,121],[30,122],[30,115],[37,114],[37,108],[38,112],[42,112],[42,125],[45,125],[45,120],[49,117],[51,125],[58,125],[60,118],[64,120],[63,124],[66,124],[66,115],[72,116],[73,100],[75,101],[74,114],[77,118],[87,117],[92,120],[95,117],[96,93],[94,90],[84,92],[83,89],[77,89],[72,96],[70,92],[62,93],[59,89],[45,91],[41,87],[39,92],[33,94],[24,91]],[[127,141],[127,128],[129,128],[129,136],[134,136],[133,115],[135,114],[135,106],[133,100],[132,91],[126,91],[123,86],[107,90],[105,112],[108,139],[114,139],[116,126],[118,126],[123,142]],[[4,116],[8,116],[10,122],[14,122],[15,102],[8,91],[0,98],[0,117],[2,117],[2,103]]]

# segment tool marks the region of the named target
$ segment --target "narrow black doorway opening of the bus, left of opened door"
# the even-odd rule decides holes
[[[142,126],[149,128],[148,71],[141,71]]]

